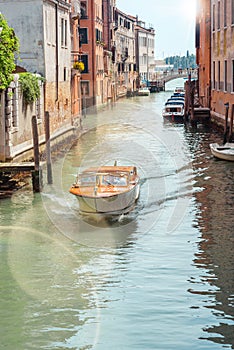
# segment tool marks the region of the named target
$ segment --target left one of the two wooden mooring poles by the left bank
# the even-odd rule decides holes
[[[32,171],[32,185],[34,192],[40,192],[42,187],[42,171],[40,169],[40,154],[38,142],[37,117],[32,116],[34,170]]]

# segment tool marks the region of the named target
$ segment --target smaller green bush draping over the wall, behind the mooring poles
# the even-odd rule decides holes
[[[28,104],[32,104],[40,97],[39,81],[43,78],[32,73],[20,73],[19,82],[23,93],[23,100]]]

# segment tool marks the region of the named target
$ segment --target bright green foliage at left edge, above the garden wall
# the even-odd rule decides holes
[[[15,54],[19,53],[19,40],[1,13],[0,28],[0,90],[4,90],[12,81],[12,72],[15,70]]]

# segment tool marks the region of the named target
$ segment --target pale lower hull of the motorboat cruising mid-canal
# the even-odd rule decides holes
[[[110,194],[105,197],[77,195],[81,213],[109,215],[118,215],[130,211],[138,197],[139,184],[129,191]]]

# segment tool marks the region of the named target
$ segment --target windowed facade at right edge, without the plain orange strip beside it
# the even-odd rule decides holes
[[[234,1],[211,1],[211,111],[224,114],[234,104]]]

